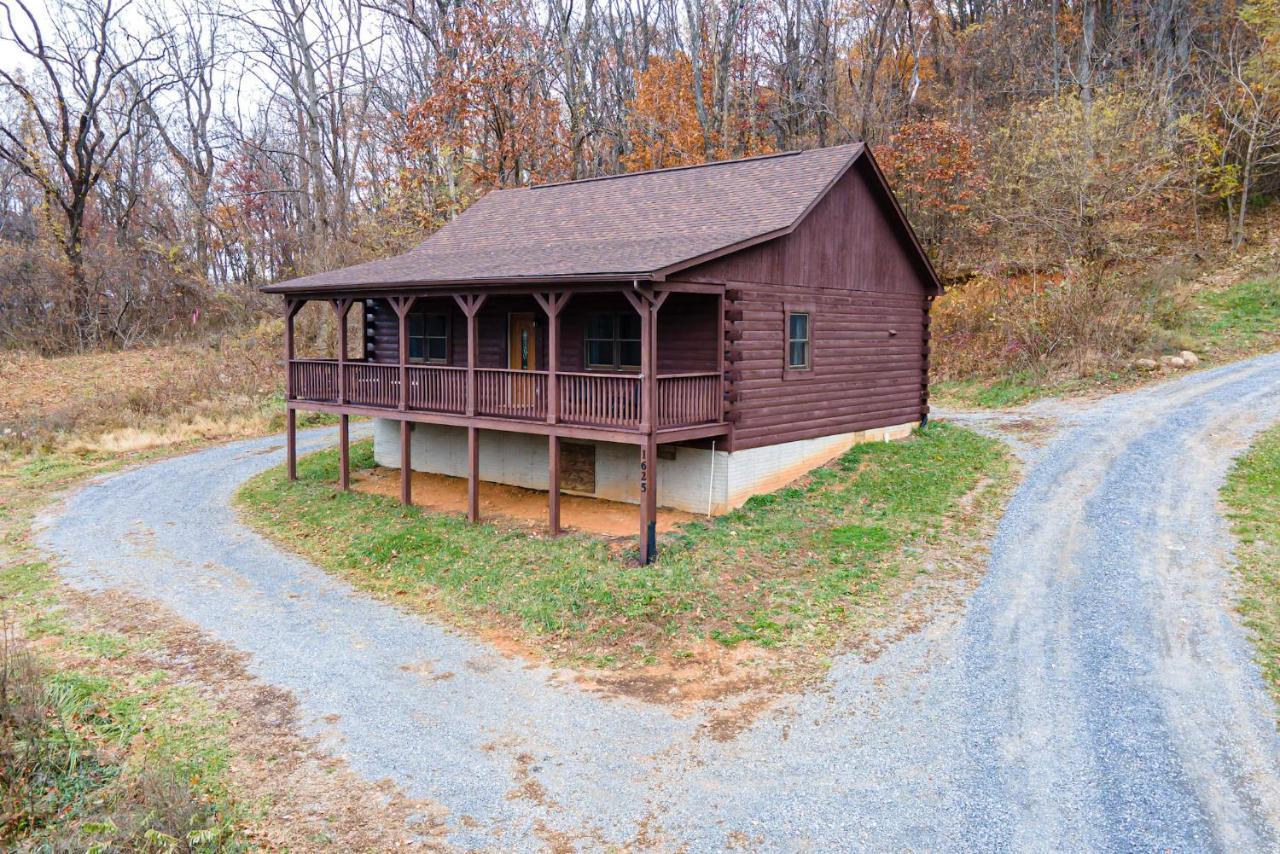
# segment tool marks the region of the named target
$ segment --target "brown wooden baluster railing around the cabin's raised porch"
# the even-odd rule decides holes
[[[397,410],[401,402],[401,366],[381,362],[347,362],[339,401],[338,362],[296,359],[289,362],[293,399],[351,403]],[[467,370],[445,365],[408,365],[406,406],[421,412],[467,411]],[[477,415],[544,420],[548,415],[547,371],[476,369]],[[557,420],[580,426],[634,430],[640,426],[639,374],[558,373]],[[717,373],[659,375],[657,383],[659,429],[714,424],[723,414],[723,379]]]

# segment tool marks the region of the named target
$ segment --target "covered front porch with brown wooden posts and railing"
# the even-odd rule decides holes
[[[294,319],[317,301],[334,312],[337,353],[300,359]],[[291,294],[289,476],[297,410],[339,416],[343,488],[351,480],[349,417],[398,421],[404,503],[412,502],[412,425],[465,428],[467,516],[477,520],[480,431],[545,435],[548,526],[559,533],[561,440],[639,446],[640,557],[648,562],[658,444],[728,433],[723,330],[723,287],[705,283]]]

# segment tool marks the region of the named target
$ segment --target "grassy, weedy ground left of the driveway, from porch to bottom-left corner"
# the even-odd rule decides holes
[[[83,479],[283,426],[266,334],[46,359],[0,353],[0,842],[78,850],[236,850],[225,714],[157,636],[104,627],[31,540]],[[96,846],[96,849],[95,849]]]

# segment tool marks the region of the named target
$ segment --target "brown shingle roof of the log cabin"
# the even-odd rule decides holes
[[[499,189],[403,255],[264,289],[660,277],[794,228],[861,152],[855,143]]]

